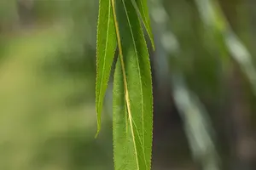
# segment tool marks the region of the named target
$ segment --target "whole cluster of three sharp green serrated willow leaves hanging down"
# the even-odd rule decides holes
[[[146,0],[100,0],[97,25],[96,112],[101,128],[103,99],[113,55],[113,156],[116,170],[151,168],[153,95],[143,26],[154,47]]]

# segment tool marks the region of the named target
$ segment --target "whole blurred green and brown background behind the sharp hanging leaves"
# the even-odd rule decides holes
[[[256,169],[255,1],[148,6],[153,169]],[[112,78],[94,138],[97,10],[94,0],[0,1],[1,170],[113,169]]]

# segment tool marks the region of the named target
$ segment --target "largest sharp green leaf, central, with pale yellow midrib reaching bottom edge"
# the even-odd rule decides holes
[[[151,167],[153,97],[147,44],[131,1],[113,2],[119,59],[113,82],[115,170]]]

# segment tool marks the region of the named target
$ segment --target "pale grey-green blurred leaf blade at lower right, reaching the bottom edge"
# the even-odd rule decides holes
[[[206,109],[186,87],[181,74],[172,76],[172,87],[195,160],[201,163],[204,170],[218,170],[219,157],[212,138],[214,131]]]

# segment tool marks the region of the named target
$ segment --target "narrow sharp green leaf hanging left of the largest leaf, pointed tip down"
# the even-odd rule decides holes
[[[116,48],[113,11],[110,0],[100,0],[96,49],[96,112],[97,133],[101,129],[103,99],[108,88],[111,65]]]

